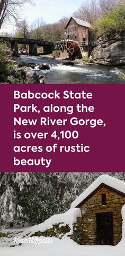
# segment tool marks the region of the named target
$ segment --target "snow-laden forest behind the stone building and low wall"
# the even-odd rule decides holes
[[[0,173],[1,227],[40,224],[70,204],[102,172]],[[123,172],[105,173],[125,181]]]

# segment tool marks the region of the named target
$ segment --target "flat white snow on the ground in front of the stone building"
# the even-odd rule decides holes
[[[1,256],[124,256],[124,245],[78,245],[69,238],[52,238],[52,244],[1,247]]]

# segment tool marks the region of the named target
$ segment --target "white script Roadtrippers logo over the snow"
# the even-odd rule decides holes
[[[20,238],[19,236],[14,237],[15,244],[51,244],[53,241],[51,238]]]

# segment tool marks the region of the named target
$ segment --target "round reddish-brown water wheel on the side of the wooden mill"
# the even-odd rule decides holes
[[[79,54],[79,46],[72,40],[61,40],[56,43],[57,51],[60,51],[60,57],[67,57],[69,59],[75,59]]]

